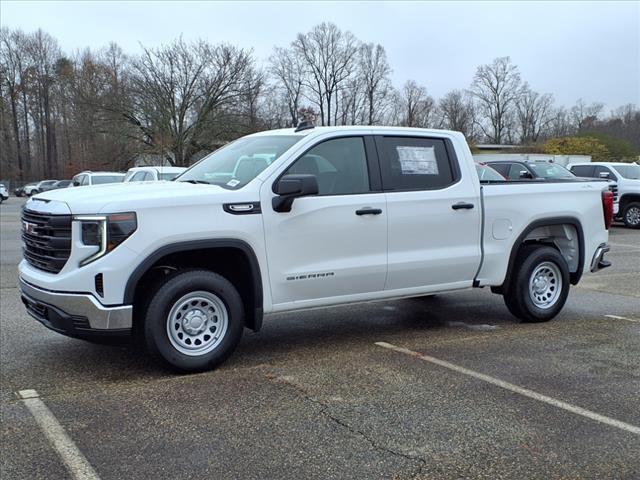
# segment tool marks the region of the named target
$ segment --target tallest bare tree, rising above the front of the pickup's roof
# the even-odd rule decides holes
[[[335,124],[337,92],[352,75],[358,42],[351,32],[333,23],[321,23],[306,34],[298,34],[292,47],[304,60],[307,97],[320,111],[322,125]]]

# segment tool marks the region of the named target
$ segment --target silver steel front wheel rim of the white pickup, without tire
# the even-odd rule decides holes
[[[167,334],[180,353],[199,356],[215,349],[224,338],[229,313],[211,292],[191,292],[174,303],[167,317]]]

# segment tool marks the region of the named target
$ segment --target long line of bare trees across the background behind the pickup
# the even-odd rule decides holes
[[[295,126],[400,125],[463,132],[472,143],[595,135],[619,157],[640,151],[640,110],[557,106],[509,57],[435,99],[391,81],[382,45],[321,23],[258,61],[250,50],[178,38],[128,55],[115,43],[63,52],[38,30],[0,31],[0,177],[70,177],[136,161],[189,165],[247,133]],[[428,79],[423,81],[428,83]],[[599,140],[599,141],[600,141]],[[613,143],[612,143],[613,142]]]

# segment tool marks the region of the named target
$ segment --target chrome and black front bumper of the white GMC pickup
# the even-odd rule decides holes
[[[52,292],[20,279],[22,303],[45,327],[70,337],[130,335],[133,307],[105,307],[92,295]]]

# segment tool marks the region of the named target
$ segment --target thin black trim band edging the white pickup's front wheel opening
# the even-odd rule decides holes
[[[233,238],[213,238],[204,240],[190,240],[186,242],[170,243],[163,245],[148,255],[138,266],[133,270],[124,290],[124,303],[126,305],[132,305],[136,288],[140,279],[145,273],[155,264],[158,260],[166,255],[179,252],[188,252],[191,250],[202,249],[216,249],[216,248],[235,248],[247,257],[249,261],[249,268],[251,270],[252,284],[253,284],[253,298],[254,308],[253,312],[246,312],[246,325],[254,331],[260,330],[262,327],[263,317],[263,291],[262,291],[262,276],[260,272],[260,264],[256,257],[253,248],[245,241],[233,239]]]

